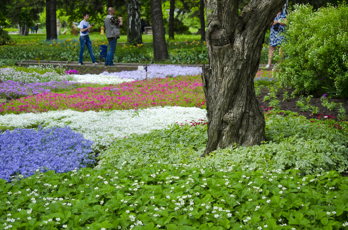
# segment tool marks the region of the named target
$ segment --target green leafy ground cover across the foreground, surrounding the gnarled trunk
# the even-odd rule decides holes
[[[117,140],[100,154],[95,169],[38,172],[13,184],[2,180],[3,227],[340,229],[348,225],[347,177],[328,171],[347,170],[344,129],[291,113],[287,117],[270,113],[268,143],[220,149],[200,158],[207,139],[203,122]]]

